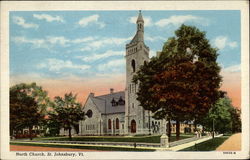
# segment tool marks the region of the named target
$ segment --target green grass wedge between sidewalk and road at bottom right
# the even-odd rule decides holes
[[[180,151],[214,151],[219,147],[229,136],[216,137],[208,141],[196,144],[192,147],[185,148]]]

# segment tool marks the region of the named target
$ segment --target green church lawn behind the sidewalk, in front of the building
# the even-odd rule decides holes
[[[190,138],[193,135],[180,135],[180,139]],[[70,141],[68,137],[52,137],[52,138],[37,138],[39,141]],[[160,143],[160,136],[81,136],[72,137],[72,141],[94,141],[94,142],[145,142],[145,143]],[[176,141],[175,135],[170,137],[170,142]]]

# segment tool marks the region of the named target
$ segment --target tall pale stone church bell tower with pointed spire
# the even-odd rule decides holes
[[[144,20],[141,11],[136,21],[136,34],[126,44],[126,89],[125,89],[125,133],[146,134],[148,132],[148,115],[137,101],[138,84],[133,83],[133,76],[140,66],[149,61],[149,47],[144,43]]]

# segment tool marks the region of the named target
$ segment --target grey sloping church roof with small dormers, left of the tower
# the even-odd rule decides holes
[[[113,99],[115,101],[119,101],[121,97],[125,101],[124,91],[101,95],[101,96],[95,96],[91,97],[91,99],[102,114],[112,114],[112,113],[125,112],[125,104],[123,105],[118,104],[116,106],[112,106],[111,103]]]

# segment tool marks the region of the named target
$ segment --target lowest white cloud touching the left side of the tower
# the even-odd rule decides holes
[[[112,60],[107,63],[98,65],[97,68],[99,71],[118,71],[120,67],[125,67],[125,59]]]

